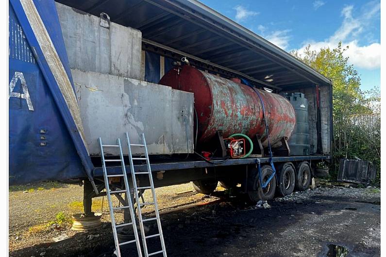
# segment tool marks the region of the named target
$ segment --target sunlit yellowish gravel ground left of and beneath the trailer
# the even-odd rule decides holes
[[[199,193],[178,192],[190,191],[190,183],[157,188],[157,200],[160,212],[167,212],[176,208],[183,208],[196,203],[217,200],[216,197],[207,198]],[[224,190],[218,188],[219,191]],[[123,196],[123,195],[122,195]],[[144,198],[150,199],[151,192],[146,191]],[[148,201],[148,200],[147,200]],[[118,200],[113,197],[113,205],[118,206]],[[146,206],[143,213],[151,214],[153,207]],[[28,248],[33,245],[48,245],[52,239],[61,234],[73,237],[79,232],[70,229],[68,221],[71,216],[83,211],[83,187],[59,182],[33,183],[26,186],[11,187],[9,192],[9,251],[10,253]],[[101,212],[101,197],[93,199],[93,211]],[[58,226],[56,215],[63,212],[63,224]],[[110,214],[107,198],[104,198],[103,216],[101,221],[111,230]],[[116,213],[117,223],[123,222],[123,214]],[[53,223],[52,225],[48,225]],[[110,232],[110,231],[108,231]]]

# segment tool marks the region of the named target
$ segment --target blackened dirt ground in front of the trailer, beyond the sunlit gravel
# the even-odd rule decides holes
[[[325,256],[328,243],[347,247],[349,256],[380,256],[380,193],[321,188],[276,198],[270,209],[249,209],[240,197],[231,199],[161,215],[168,256]],[[87,240],[90,234],[99,237]],[[149,244],[158,250],[157,243]],[[113,250],[108,224],[10,256],[108,257]],[[123,250],[122,256],[136,255]]]

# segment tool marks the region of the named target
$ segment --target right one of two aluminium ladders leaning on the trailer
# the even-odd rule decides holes
[[[145,134],[144,133],[142,133],[141,139],[142,139],[142,144],[140,144],[140,145],[138,145],[138,144],[130,144],[129,133],[126,132],[127,145],[129,146],[130,170],[131,170],[132,179],[133,179],[135,201],[137,203],[137,209],[138,209],[138,219],[139,219],[139,227],[141,229],[143,250],[144,250],[144,253],[145,253],[145,257],[149,257],[149,256],[161,254],[161,253],[163,254],[164,257],[167,257],[165,241],[164,241],[164,235],[162,233],[161,220],[160,220],[159,212],[158,212],[158,204],[157,204],[157,199],[156,199],[156,196],[155,196],[153,177],[151,175],[151,167],[150,167],[150,161],[149,161],[148,147],[146,146]],[[144,147],[145,148],[145,158],[134,158],[132,156],[132,150],[131,150],[132,146]],[[147,172],[135,172],[134,171],[133,160],[146,160]],[[136,182],[135,175],[140,175],[140,174],[148,175],[149,176],[150,187],[137,187],[137,182]],[[143,203],[139,202],[138,191],[139,190],[144,190],[144,189],[151,189],[152,202],[143,202]],[[155,217],[154,218],[143,219],[141,207],[142,206],[146,206],[146,205],[154,205],[154,210],[155,210]],[[143,223],[144,222],[148,222],[148,221],[154,221],[154,220],[157,221],[158,233],[154,234],[154,235],[146,236]],[[149,239],[149,238],[155,238],[155,237],[159,237],[159,239],[161,241],[162,250],[154,252],[154,253],[149,253],[146,240]]]

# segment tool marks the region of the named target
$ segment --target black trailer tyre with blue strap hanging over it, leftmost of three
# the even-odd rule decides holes
[[[254,183],[256,190],[250,190],[248,191],[249,199],[252,202],[257,202],[259,200],[271,200],[275,196],[276,191],[276,176],[272,177],[272,179],[269,181],[266,188],[262,188],[259,181],[259,174],[258,172],[255,172],[256,176],[254,177]],[[268,180],[268,178],[273,174],[273,170],[271,166],[264,165],[261,167],[261,178],[263,180],[263,184]]]

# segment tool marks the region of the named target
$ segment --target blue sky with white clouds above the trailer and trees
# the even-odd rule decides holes
[[[342,41],[361,88],[381,85],[380,0],[200,1],[286,51]]]

